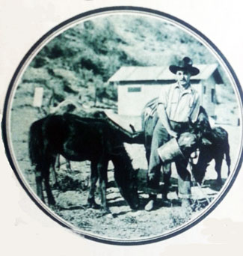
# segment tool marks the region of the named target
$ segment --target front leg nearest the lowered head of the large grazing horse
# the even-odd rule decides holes
[[[108,209],[108,206],[107,206],[107,200],[106,200],[107,168],[108,168],[108,160],[105,159],[98,162],[97,170],[99,174],[101,207],[104,213],[110,213],[110,210]]]

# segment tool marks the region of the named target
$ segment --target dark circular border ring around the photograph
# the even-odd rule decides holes
[[[212,43],[211,40],[209,40],[204,34],[202,34],[200,31],[198,31],[196,28],[194,28],[193,26],[189,25],[188,23],[182,21],[181,19],[176,18],[175,16],[171,16],[170,14],[164,13],[162,11],[159,10],[153,10],[150,8],[145,8],[145,7],[135,7],[135,6],[117,6],[117,7],[103,7],[103,8],[99,8],[99,9],[95,9],[95,10],[90,10],[81,14],[78,14],[76,16],[73,16],[70,19],[67,19],[64,22],[61,22],[59,25],[56,25],[54,28],[52,28],[51,30],[49,30],[46,34],[43,35],[43,37],[40,37],[39,40],[37,40],[36,43],[34,43],[34,46],[31,47],[31,49],[28,50],[28,52],[25,54],[24,58],[22,58],[22,61],[20,61],[19,66],[16,68],[15,73],[13,74],[13,77],[10,81],[10,85],[7,89],[7,94],[5,96],[5,100],[4,100],[4,111],[3,111],[3,118],[1,121],[1,133],[2,133],[2,140],[4,142],[4,147],[5,147],[5,154],[7,156],[8,161],[10,162],[10,166],[14,171],[14,174],[16,175],[17,179],[19,180],[19,183],[22,185],[23,189],[25,189],[25,192],[27,192],[28,196],[31,198],[32,201],[34,201],[34,203],[37,205],[37,207],[40,208],[40,210],[42,210],[44,213],[46,213],[47,216],[49,216],[51,219],[53,219],[55,222],[58,222],[58,224],[60,224],[61,226],[63,226],[64,228],[69,228],[72,231],[74,231],[72,228],[70,228],[70,226],[65,225],[64,222],[61,222],[59,219],[56,219],[54,216],[52,216],[48,210],[46,210],[37,200],[36,198],[34,198],[33,195],[31,195],[31,192],[29,192],[28,188],[25,186],[25,184],[22,181],[22,178],[19,176],[18,171],[16,170],[16,166],[13,163],[13,159],[10,155],[10,146],[7,142],[7,106],[10,100],[10,93],[13,89],[13,85],[16,81],[16,78],[19,74],[19,71],[21,70],[21,68],[24,66],[25,61],[28,59],[28,57],[31,55],[32,52],[34,52],[35,49],[37,49],[38,46],[40,46],[41,43],[43,43],[43,41],[49,37],[50,35],[54,34],[55,31],[57,31],[58,29],[64,27],[65,25],[68,25],[71,22],[76,21],[77,19],[81,19],[85,16],[90,16],[92,14],[98,14],[98,13],[105,13],[108,11],[119,11],[119,10],[135,10],[135,11],[141,11],[142,13],[150,13],[150,14],[156,14],[168,19],[171,19],[175,22],[178,22],[182,25],[184,25],[185,27],[189,28],[191,31],[194,31],[197,35],[199,35],[199,37],[203,38],[203,40],[205,40],[207,43],[209,43],[210,46],[212,46],[212,49],[215,50],[215,52],[218,53],[218,55],[221,57],[222,61],[224,61],[224,64],[227,65],[227,68],[229,69],[231,75],[233,76],[233,80],[234,82],[236,82],[236,86],[239,92],[239,97],[241,100],[241,103],[243,101],[243,92],[242,92],[242,87],[239,83],[239,79],[236,76],[236,73],[234,72],[233,68],[230,66],[230,63],[227,61],[227,59],[224,57],[224,55],[221,53],[221,51],[217,48],[217,46],[215,46],[214,43]],[[227,188],[225,189],[225,191],[223,192],[223,194],[217,199],[217,201],[215,202],[215,204],[212,205],[212,207],[209,208],[209,210],[206,211],[206,213],[203,213],[202,216],[200,216],[198,219],[192,221],[189,225],[186,225],[185,228],[181,228],[179,231],[174,231],[172,234],[165,234],[162,237],[156,237],[156,238],[151,238],[148,240],[141,240],[141,241],[116,241],[116,240],[105,240],[102,238],[97,238],[97,237],[92,237],[91,235],[87,235],[87,234],[81,234],[81,232],[79,233],[78,231],[74,231],[76,234],[80,234],[82,237],[87,238],[89,240],[93,240],[99,243],[105,243],[105,244],[111,244],[111,245],[118,245],[118,246],[138,246],[138,245],[144,245],[144,244],[148,244],[148,243],[156,243],[162,240],[167,240],[170,237],[174,237],[178,234],[181,234],[182,232],[187,231],[189,228],[192,228],[194,225],[196,225],[198,222],[202,221],[206,216],[209,215],[209,213],[212,212],[212,210],[215,209],[215,207],[218,206],[218,204],[221,203],[221,201],[224,199],[225,195],[227,195],[227,192],[229,192],[230,188],[233,186],[233,183],[236,180],[237,175],[239,174],[239,170],[241,168],[242,165],[242,160],[243,160],[243,153],[241,153],[241,155],[239,156],[239,163],[236,166],[236,171],[235,174],[233,175],[233,177],[230,180],[230,183],[228,184]]]

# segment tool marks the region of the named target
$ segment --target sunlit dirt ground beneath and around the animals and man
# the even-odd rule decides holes
[[[31,168],[28,158],[28,127],[40,118],[37,109],[31,106],[13,107],[11,114],[11,140],[13,150],[23,177],[35,191],[34,170]],[[229,132],[230,155],[232,158],[232,170],[236,165],[235,152],[238,152],[239,127],[225,126]],[[96,237],[111,240],[144,240],[167,234],[176,228],[182,227],[186,222],[197,218],[205,207],[207,201],[217,198],[219,188],[215,186],[216,173],[214,162],[211,162],[206,172],[206,180],[202,188],[196,184],[192,187],[192,199],[194,200],[194,211],[185,210],[180,205],[176,194],[177,174],[173,166],[171,177],[172,186],[168,194],[170,204],[164,205],[162,196],[159,195],[156,210],[146,212],[144,205],[147,204],[148,195],[144,188],[146,186],[147,162],[145,159],[144,146],[141,144],[126,144],[126,150],[132,158],[132,165],[138,169],[138,193],[141,208],[132,211],[120,195],[114,182],[113,166],[108,166],[108,207],[111,214],[102,215],[100,210],[87,209],[87,192],[89,186],[90,162],[71,162],[72,171],[67,171],[64,159],[57,177],[52,175],[52,189],[57,201],[54,212],[58,218],[68,222],[70,226],[78,229],[83,234],[95,235]],[[224,161],[222,177],[227,178],[227,166]],[[59,187],[54,186],[55,179]],[[163,185],[163,183],[161,183]],[[96,189],[96,202],[99,203],[99,189]]]

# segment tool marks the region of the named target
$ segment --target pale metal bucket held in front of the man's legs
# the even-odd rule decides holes
[[[179,158],[185,158],[176,138],[171,138],[170,141],[167,141],[165,144],[159,147],[157,151],[159,157],[164,163],[174,162]]]

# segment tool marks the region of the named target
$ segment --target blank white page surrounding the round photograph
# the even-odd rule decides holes
[[[33,44],[66,19],[98,7],[133,5],[188,22],[223,52],[243,85],[243,15],[239,0],[0,0],[0,102]],[[243,174],[224,201],[193,228],[159,243],[111,246],[79,237],[52,221],[28,198],[0,144],[1,255],[242,255]]]

